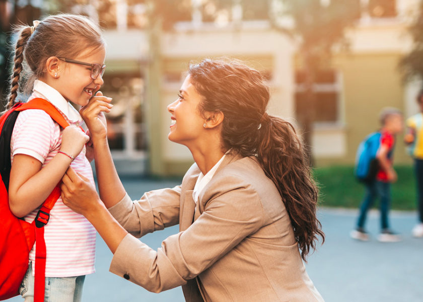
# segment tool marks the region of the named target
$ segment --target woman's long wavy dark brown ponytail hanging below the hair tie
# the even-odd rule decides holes
[[[309,159],[291,123],[266,113],[263,116],[257,158],[284,200],[301,257],[306,260],[310,248],[316,248],[318,236],[324,241],[316,217],[318,190],[310,175]]]

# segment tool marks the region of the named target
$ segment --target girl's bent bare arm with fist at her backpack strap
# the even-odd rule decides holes
[[[60,151],[70,156],[78,156],[88,136],[76,126],[63,130]],[[9,204],[11,211],[23,217],[38,206],[51,193],[60,181],[72,160],[64,154],[57,155],[43,168],[35,158],[17,154],[14,156],[9,183]]]

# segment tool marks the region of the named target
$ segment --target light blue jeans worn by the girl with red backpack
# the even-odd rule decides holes
[[[85,275],[62,278],[46,277],[44,302],[81,302],[84,280]],[[24,302],[34,301],[34,281],[30,263],[19,288],[19,293],[25,299]]]

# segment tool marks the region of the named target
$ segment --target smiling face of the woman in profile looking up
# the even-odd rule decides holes
[[[205,120],[198,110],[200,101],[201,96],[191,84],[188,75],[179,90],[178,99],[167,107],[172,114],[168,135],[171,141],[190,147],[204,134]]]

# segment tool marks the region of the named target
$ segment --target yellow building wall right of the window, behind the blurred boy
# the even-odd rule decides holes
[[[346,155],[339,159],[317,159],[318,165],[354,163],[356,150],[363,138],[379,128],[379,112],[383,107],[404,108],[404,85],[398,70],[400,53],[338,54],[334,67],[342,73],[342,99],[346,135]],[[410,163],[397,136],[395,163]]]

